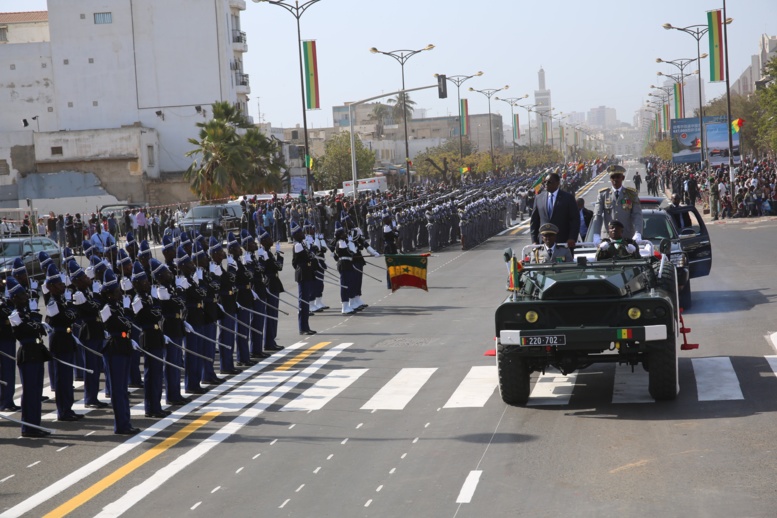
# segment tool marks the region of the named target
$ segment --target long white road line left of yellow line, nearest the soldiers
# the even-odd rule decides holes
[[[150,427],[140,432],[138,435],[135,435],[127,439],[122,444],[116,446],[115,448],[106,452],[100,457],[96,458],[92,462],[82,466],[81,468],[70,473],[66,477],[54,482],[53,484],[47,486],[45,489],[35,493],[34,495],[30,496],[26,500],[22,501],[21,503],[8,509],[4,513],[0,514],[0,518],[20,516],[20,515],[29,513],[32,509],[35,509],[36,507],[43,504],[44,502],[50,500],[51,498],[54,498],[62,491],[65,491],[66,489],[73,486],[74,484],[77,484],[79,481],[83,480],[89,475],[92,475],[99,469],[107,466],[108,464],[118,459],[125,453],[130,452],[136,446],[143,444],[144,442],[151,439],[159,432],[162,432],[166,428],[172,426],[180,419],[182,419],[183,417],[187,416],[189,413],[199,408],[201,405],[208,403],[209,401],[218,397],[220,394],[223,394],[227,390],[234,388],[234,386],[237,385],[238,383],[242,383],[243,381],[250,378],[251,376],[256,375],[257,372],[259,372],[260,370],[277,362],[278,360],[282,359],[284,356],[303,347],[304,345],[306,345],[305,342],[297,342],[295,344],[292,344],[286,347],[285,349],[283,349],[282,351],[279,351],[278,353],[273,354],[270,358],[267,358],[266,360],[258,363],[257,365],[254,365],[250,369],[244,370],[241,374],[238,374],[237,376],[230,378],[225,383],[222,383],[221,385],[214,387],[212,390],[209,390],[206,394],[200,396],[195,401],[192,401],[191,403],[188,403],[187,405],[181,407],[177,411],[170,414],[168,417],[157,421]],[[93,433],[94,431],[91,431],[86,435],[89,436],[89,435],[92,435]]]

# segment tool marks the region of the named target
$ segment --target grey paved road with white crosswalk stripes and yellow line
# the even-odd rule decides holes
[[[484,352],[504,296],[501,251],[528,241],[518,231],[436,254],[428,293],[390,294],[365,279],[371,306],[348,318],[315,316],[319,334],[304,342],[287,317],[282,356],[168,419],[137,417],[145,430],[126,442],[110,433],[104,411],[52,423],[62,434],[50,441],[18,439],[18,428],[0,426],[0,509],[773,516],[775,227],[711,226],[713,275],[694,280],[686,315],[701,346],[680,355],[675,402],[650,401],[640,369],[608,365],[535,375],[527,408],[502,403]],[[142,403],[138,394],[132,401]]]

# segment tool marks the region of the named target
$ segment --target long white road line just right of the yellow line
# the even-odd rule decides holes
[[[324,367],[338,354],[340,354],[351,345],[353,344],[342,343],[327,350],[321,356],[321,358],[313,362],[309,367],[306,367],[286,383],[276,388],[271,394],[262,397],[254,406],[245,410],[238,417],[224,425],[213,435],[198,443],[192,449],[183,453],[170,464],[148,477],[142,483],[131,488],[123,497],[106,505],[102,512],[97,515],[97,517],[106,518],[121,516],[124,514],[143,498],[151,494],[156,489],[162,487],[162,485],[170,480],[170,478],[186,469],[186,467],[190,466],[192,463],[215,448],[217,445],[221,444],[223,441],[229,439],[232,435],[238,433],[245,425],[256,419],[270,406],[275,405],[279,399],[294,390],[297,385],[315,374],[318,370]],[[286,372],[286,374],[288,374],[288,372]]]

